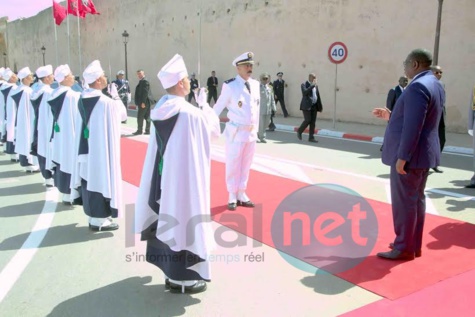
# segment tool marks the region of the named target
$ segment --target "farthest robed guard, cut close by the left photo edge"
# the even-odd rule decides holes
[[[16,82],[18,81],[17,75],[7,68],[3,72],[3,78],[7,81],[2,86],[2,98],[5,103],[5,135],[6,142],[5,153],[10,154],[12,162],[18,161],[18,154],[15,153],[15,130],[16,130],[16,104],[11,98],[17,89]]]

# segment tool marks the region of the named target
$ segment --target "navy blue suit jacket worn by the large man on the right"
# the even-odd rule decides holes
[[[444,88],[431,71],[416,76],[391,113],[384,134],[384,164],[402,159],[408,168],[440,165],[438,129],[444,101]]]

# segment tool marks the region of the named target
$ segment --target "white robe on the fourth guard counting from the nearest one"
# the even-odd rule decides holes
[[[50,137],[53,124],[53,117],[51,114],[51,107],[48,104],[48,100],[53,93],[53,89],[49,85],[41,83],[38,86],[38,90],[34,91],[31,99],[37,99],[41,95],[41,103],[38,109],[38,149],[37,153],[46,158],[46,161],[51,161],[51,145]]]

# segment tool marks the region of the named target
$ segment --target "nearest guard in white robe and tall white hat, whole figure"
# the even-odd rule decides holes
[[[146,260],[165,273],[170,291],[198,293],[211,280],[210,137],[219,136],[219,118],[204,88],[199,107],[185,100],[190,80],[180,55],[163,66],[158,78],[168,94],[151,112],[136,232],[147,241]],[[173,227],[160,230],[170,221]]]

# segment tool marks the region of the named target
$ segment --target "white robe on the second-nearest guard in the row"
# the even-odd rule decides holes
[[[122,101],[107,97],[101,90],[88,88],[81,93],[82,98],[97,96],[100,99],[88,123],[88,154],[78,155],[83,120],[79,112],[76,114],[74,142],[76,163],[71,175],[71,188],[79,188],[81,179],[84,179],[87,181],[88,191],[100,193],[104,198],[110,199],[111,208],[120,212],[122,209],[120,130],[121,121],[127,118],[127,113]]]

